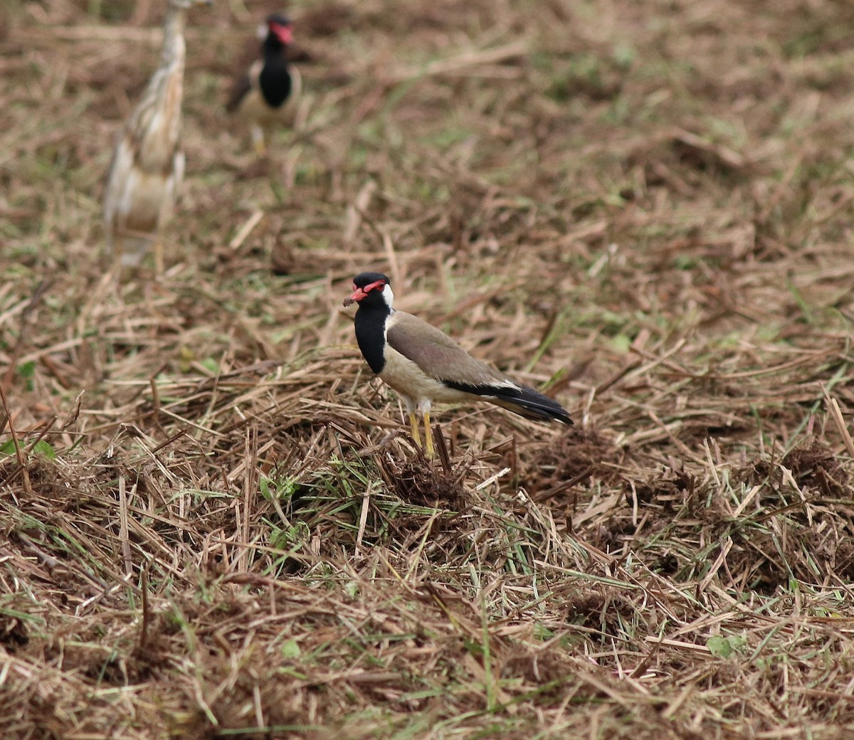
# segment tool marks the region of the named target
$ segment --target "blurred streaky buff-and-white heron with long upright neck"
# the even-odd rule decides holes
[[[135,266],[154,243],[155,271],[163,271],[160,231],[172,215],[181,180],[181,99],[184,25],[193,5],[211,0],[168,0],[160,66],[115,144],[104,187],[104,228],[116,271]]]

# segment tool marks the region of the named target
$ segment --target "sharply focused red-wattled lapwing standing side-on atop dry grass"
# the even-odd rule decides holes
[[[435,326],[411,313],[395,311],[394,300],[388,277],[362,272],[354,277],[353,295],[344,306],[359,304],[356,341],[371,370],[401,394],[418,446],[421,439],[415,410],[421,411],[429,457],[433,457],[430,406],[434,401],[484,400],[529,419],[572,423],[557,401],[471,357]]]

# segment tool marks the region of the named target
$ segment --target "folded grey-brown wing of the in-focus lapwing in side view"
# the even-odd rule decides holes
[[[516,387],[509,378],[471,357],[451,337],[411,313],[393,312],[386,327],[389,346],[437,381],[472,387]]]

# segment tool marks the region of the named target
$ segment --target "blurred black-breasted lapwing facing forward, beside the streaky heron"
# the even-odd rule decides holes
[[[295,114],[295,99],[300,94],[300,73],[288,61],[285,52],[294,34],[290,20],[274,13],[260,26],[261,58],[249,72],[235,80],[225,109],[249,121],[252,143],[264,154],[264,129],[275,123],[290,123]]]

